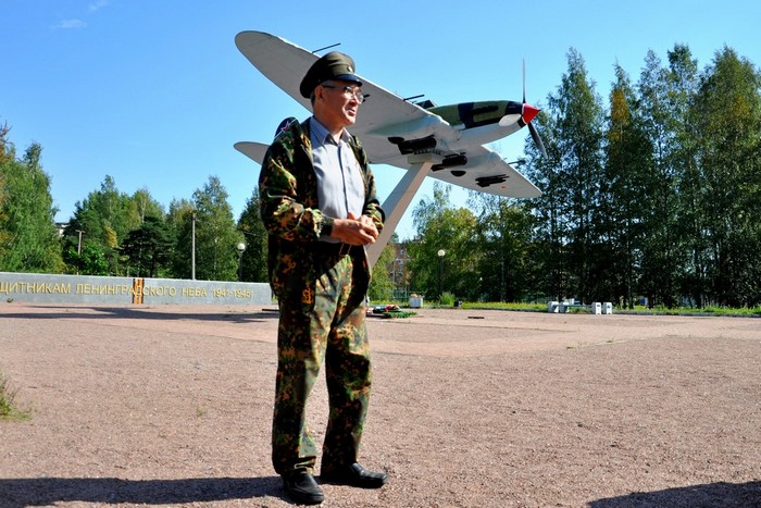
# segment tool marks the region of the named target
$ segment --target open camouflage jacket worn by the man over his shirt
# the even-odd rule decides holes
[[[259,176],[260,211],[267,231],[270,284],[278,299],[300,299],[307,307],[313,305],[314,282],[323,270],[316,267],[314,251],[327,223],[317,208],[317,177],[312,164],[309,123],[309,120],[292,121],[277,135],[267,149]],[[380,231],[384,214],[367,154],[354,136],[351,136],[350,146],[364,179],[362,213],[371,216]],[[354,283],[369,284],[370,265],[364,249],[351,249],[351,256]]]

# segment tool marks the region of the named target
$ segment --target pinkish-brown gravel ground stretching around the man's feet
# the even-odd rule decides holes
[[[369,319],[362,462],[324,507],[760,507],[761,320],[422,309]],[[2,303],[0,507],[290,506],[277,313]],[[324,382],[311,399],[317,439]],[[317,471],[319,473],[319,471]]]

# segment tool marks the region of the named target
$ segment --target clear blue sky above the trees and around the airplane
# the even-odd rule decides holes
[[[700,69],[724,46],[759,66],[761,3],[725,5],[0,0],[0,122],[11,127],[18,154],[33,141],[42,146],[58,221],[67,221],[105,175],[123,193],[148,188],[164,207],[190,199],[216,175],[237,220],[259,166],[233,144],[267,141],[282,119],[308,115],[238,52],[238,32],[269,32],[308,49],[340,42],[360,75],[438,104],[521,100],[525,59],[527,98],[540,107],[557,91],[572,47],[603,98],[614,63],[636,82],[648,50],[665,61],[675,44],[686,44]],[[514,160],[526,136],[523,129],[492,148]],[[384,199],[401,170],[374,172]],[[413,200],[398,230],[402,238],[412,236],[411,210],[432,188],[426,183]],[[466,194],[452,198],[464,206]]]

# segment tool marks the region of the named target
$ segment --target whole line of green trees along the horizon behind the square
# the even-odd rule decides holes
[[[404,285],[431,300],[575,297],[633,307],[761,305],[761,74],[731,48],[702,70],[685,45],[653,51],[634,82],[619,64],[607,100],[573,48],[520,168],[542,191],[515,200],[449,187],[413,209],[406,259],[387,246],[371,298]],[[164,211],[111,176],[76,203],[59,238],[50,179],[33,144],[17,157],[0,125],[0,271],[266,281],[257,189],[237,219],[216,176]],[[245,244],[240,255],[236,246]],[[395,236],[392,243],[399,243]],[[446,252],[439,256],[439,251]]]

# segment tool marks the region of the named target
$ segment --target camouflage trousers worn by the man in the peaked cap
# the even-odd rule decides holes
[[[372,370],[364,324],[366,286],[355,287],[352,271],[350,256],[328,262],[316,281],[312,310],[279,298],[272,428],[272,461],[278,474],[314,468],[317,450],[305,420],[307,400],[323,363],[329,414],[322,467],[358,460]]]

